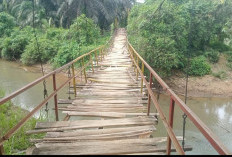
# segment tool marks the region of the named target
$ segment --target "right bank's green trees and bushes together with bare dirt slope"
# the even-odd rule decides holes
[[[230,97],[231,7],[230,0],[147,0],[131,10],[129,40],[177,93],[185,93],[188,73],[189,96]]]

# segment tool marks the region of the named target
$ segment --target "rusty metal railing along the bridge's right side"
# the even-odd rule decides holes
[[[147,64],[147,62],[136,52],[133,46],[127,41],[128,51],[130,53],[133,66],[137,69],[137,80],[138,75],[141,76],[141,92],[143,92],[143,85],[145,84],[148,91],[148,111],[147,115],[150,114],[151,101],[154,103],[155,108],[157,109],[160,118],[165,126],[165,129],[168,133],[167,135],[167,155],[171,153],[171,143],[177,151],[178,154],[184,155],[185,152],[180,146],[176,135],[173,131],[173,118],[174,118],[174,108],[175,104],[179,106],[179,108],[189,117],[189,119],[193,122],[193,124],[200,130],[200,132],[205,136],[205,138],[210,142],[210,144],[214,147],[214,149],[221,155],[229,155],[231,152],[220,142],[220,140],[216,137],[216,135],[198,118],[198,116],[193,113],[193,111],[169,88],[169,86],[159,77],[159,75]],[[141,64],[141,68],[140,65]],[[150,72],[149,82],[146,80],[144,76],[144,68],[147,68]],[[152,83],[153,78],[162,86],[163,90],[170,96],[170,108],[169,108],[169,120],[164,115],[153,91],[152,91]]]

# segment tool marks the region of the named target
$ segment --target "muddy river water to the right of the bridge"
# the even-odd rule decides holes
[[[181,99],[184,100],[183,97],[181,97]],[[164,95],[160,97],[159,101],[167,118],[169,101],[170,98]],[[232,152],[231,100],[223,98],[189,98],[187,105]],[[182,114],[183,112],[178,105],[176,105],[174,114],[174,132],[177,136],[183,135]],[[159,120],[159,123],[162,123],[161,120]],[[158,130],[154,133],[154,136],[167,136],[164,127],[158,125],[157,129]],[[189,119],[187,119],[186,123],[186,139],[186,145],[193,146],[193,151],[186,152],[186,154],[218,154]]]

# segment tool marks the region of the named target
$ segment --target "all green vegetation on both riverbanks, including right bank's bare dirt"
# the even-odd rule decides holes
[[[189,95],[231,96],[230,0],[36,1],[34,21],[33,1],[0,2],[2,59],[57,68],[105,44],[112,28],[126,27],[132,45],[178,93],[188,73]]]

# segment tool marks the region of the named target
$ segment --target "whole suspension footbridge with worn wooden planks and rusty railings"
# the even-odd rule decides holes
[[[77,67],[77,64],[82,66]],[[67,69],[71,71],[69,77],[58,86],[58,74]],[[145,76],[145,69],[150,76]],[[77,81],[80,75],[83,75],[83,82]],[[33,130],[25,132],[45,134],[42,139],[31,139],[34,146],[28,148],[28,155],[170,155],[171,152],[184,155],[194,148],[181,146],[181,141],[188,139],[174,133],[175,107],[187,115],[218,154],[231,154],[136,52],[128,42],[125,29],[118,29],[106,45],[3,98],[0,105],[48,78],[53,80],[53,92],[0,138],[0,154],[4,154],[4,142],[51,99],[56,119],[38,122]],[[155,83],[170,96],[168,117],[152,90]],[[67,85],[74,99],[58,99],[59,91]],[[151,112],[152,107],[157,112]],[[65,115],[62,120],[60,113]],[[152,136],[157,125],[164,125],[166,137]]]

